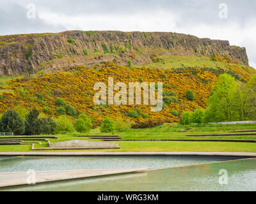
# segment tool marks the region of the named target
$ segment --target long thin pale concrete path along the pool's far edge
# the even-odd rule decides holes
[[[256,152],[0,152],[0,156],[236,156],[236,157],[256,157]]]

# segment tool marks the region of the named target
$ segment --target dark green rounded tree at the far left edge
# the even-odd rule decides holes
[[[12,132],[14,135],[24,133],[24,122],[15,110],[7,110],[0,120],[0,131]]]

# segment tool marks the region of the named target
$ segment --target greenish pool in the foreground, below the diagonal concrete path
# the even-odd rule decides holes
[[[228,172],[227,184],[219,171]],[[9,187],[5,191],[256,191],[256,159]]]

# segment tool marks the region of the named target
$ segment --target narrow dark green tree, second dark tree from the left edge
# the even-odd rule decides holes
[[[25,134],[26,135],[37,135],[38,134],[38,115],[39,112],[36,108],[33,108],[26,115],[25,120]]]

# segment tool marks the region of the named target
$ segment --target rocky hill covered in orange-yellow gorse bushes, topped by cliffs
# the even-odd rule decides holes
[[[134,127],[177,122],[184,111],[206,108],[212,85],[222,73],[246,82],[255,69],[245,48],[228,41],[176,33],[67,31],[0,36],[0,114],[10,108],[58,117],[86,112],[99,126],[107,115],[131,120]],[[163,82],[167,102],[161,112],[150,105],[95,105],[96,82]],[[192,90],[195,99],[186,98]],[[56,105],[63,99],[65,108]],[[136,110],[138,117],[129,112]]]

